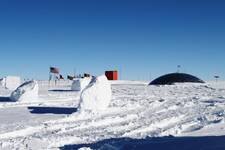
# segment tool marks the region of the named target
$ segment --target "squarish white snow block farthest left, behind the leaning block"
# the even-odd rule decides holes
[[[3,81],[3,86],[9,90],[15,90],[21,84],[21,79],[17,76],[7,76]]]

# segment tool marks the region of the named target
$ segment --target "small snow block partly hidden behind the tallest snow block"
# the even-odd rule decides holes
[[[82,78],[82,79],[74,80],[72,83],[71,90],[82,91],[84,88],[88,86],[90,82],[91,82],[91,78]]]

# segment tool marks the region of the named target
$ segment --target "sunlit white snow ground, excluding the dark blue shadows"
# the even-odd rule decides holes
[[[41,102],[33,103],[35,106],[71,108],[79,105],[80,93],[76,91],[39,90],[39,93]],[[54,100],[58,96],[58,101]],[[11,113],[10,117],[15,120],[10,127],[7,117],[1,118],[0,137],[4,138],[0,138],[0,149],[35,149],[37,144],[41,149],[58,149],[68,144],[120,137],[225,135],[221,127],[225,124],[225,89],[212,88],[211,84],[112,84],[107,111],[97,114],[32,114],[26,109],[32,103],[20,105],[2,104],[0,107],[4,116],[18,111]],[[27,116],[29,121],[20,121],[22,116],[17,114],[24,114],[22,116]]]

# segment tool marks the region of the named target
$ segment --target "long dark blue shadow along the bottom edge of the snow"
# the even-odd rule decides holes
[[[61,150],[81,147],[101,150],[225,150],[225,136],[106,139],[92,144],[65,145]]]

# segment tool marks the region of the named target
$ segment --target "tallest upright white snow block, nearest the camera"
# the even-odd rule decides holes
[[[79,111],[98,112],[105,110],[111,101],[111,84],[105,75],[93,77],[81,93]]]

